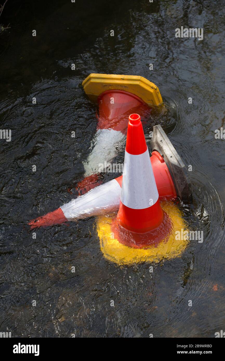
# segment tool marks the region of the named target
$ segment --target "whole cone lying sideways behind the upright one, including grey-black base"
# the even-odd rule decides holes
[[[160,125],[153,127],[151,144],[153,149],[157,149],[157,151],[154,150],[152,152],[150,161],[159,199],[161,201],[175,200],[178,196],[181,201],[190,203],[192,192],[188,172],[182,159]],[[51,226],[66,221],[75,221],[100,214],[108,214],[111,211],[118,211],[122,178],[123,176],[121,175],[88,191],[85,195],[73,199],[56,211],[30,221],[30,226],[32,228]]]

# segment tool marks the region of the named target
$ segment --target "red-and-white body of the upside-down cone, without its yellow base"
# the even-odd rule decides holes
[[[98,97],[99,116],[91,152],[83,162],[85,178],[77,184],[79,195],[101,183],[101,164],[112,162],[126,139],[127,118],[131,112],[143,117],[151,108],[138,96],[120,90],[105,91]]]

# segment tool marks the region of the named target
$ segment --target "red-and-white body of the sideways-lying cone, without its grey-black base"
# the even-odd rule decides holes
[[[154,177],[156,180],[159,198],[161,200],[174,200],[177,197],[173,180],[170,176],[168,167],[159,152],[152,152],[150,157]],[[94,176],[90,176],[95,182]],[[122,178],[112,179],[107,183],[101,184],[94,189],[89,190],[82,196],[73,199],[69,203],[62,205],[57,210],[47,213],[29,221],[31,228],[52,226],[64,223],[66,221],[76,221],[91,216],[99,216],[110,212],[117,212],[120,205],[120,195]],[[83,186],[85,183],[83,183]]]

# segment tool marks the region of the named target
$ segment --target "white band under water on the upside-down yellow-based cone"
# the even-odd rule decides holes
[[[118,155],[118,146],[126,139],[120,131],[113,129],[99,129],[92,141],[93,149],[83,165],[85,167],[85,177],[91,174],[100,173],[101,164],[104,161],[110,162]],[[122,145],[122,144],[121,144]]]

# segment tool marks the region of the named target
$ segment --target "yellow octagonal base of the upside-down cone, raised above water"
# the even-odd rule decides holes
[[[139,96],[151,106],[163,104],[159,88],[149,80],[137,75],[90,74],[82,83],[91,100],[106,90],[125,90]]]

